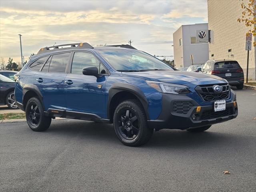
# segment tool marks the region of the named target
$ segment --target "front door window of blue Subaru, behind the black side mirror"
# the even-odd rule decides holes
[[[89,66],[96,66],[99,69],[100,62],[95,58],[94,55],[87,52],[75,52],[71,73],[73,74],[82,74],[82,69]],[[105,69],[106,70],[106,69]]]

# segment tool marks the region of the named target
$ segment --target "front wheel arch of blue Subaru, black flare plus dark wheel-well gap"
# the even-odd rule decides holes
[[[113,122],[114,111],[116,106],[127,99],[137,99],[143,106],[147,119],[148,101],[140,88],[126,83],[114,83],[108,91],[107,118]]]

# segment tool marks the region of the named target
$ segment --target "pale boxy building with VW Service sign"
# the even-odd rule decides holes
[[[173,34],[174,66],[204,64],[209,59],[208,23],[182,25]]]

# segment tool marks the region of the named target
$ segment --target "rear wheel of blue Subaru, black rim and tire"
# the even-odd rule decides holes
[[[44,116],[44,108],[37,97],[32,97],[26,105],[26,119],[33,131],[45,131],[49,128],[52,118]]]

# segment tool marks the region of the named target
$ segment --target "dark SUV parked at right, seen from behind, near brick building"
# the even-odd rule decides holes
[[[224,78],[237,89],[244,87],[244,71],[236,60],[208,60],[201,71]]]

